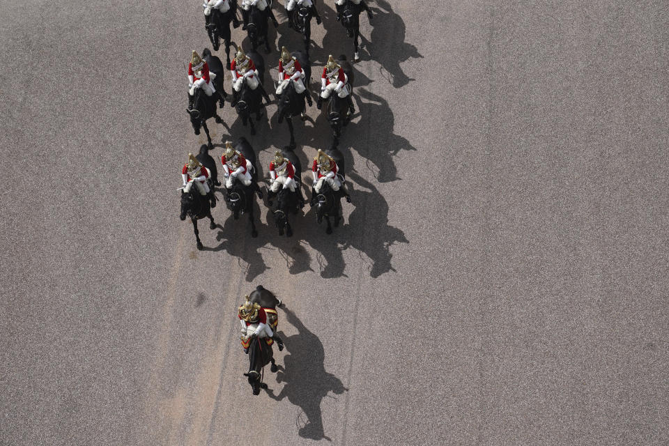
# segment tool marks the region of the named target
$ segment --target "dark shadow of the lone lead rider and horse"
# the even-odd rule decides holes
[[[300,426],[298,435],[312,440],[328,440],[323,428],[321,401],[330,392],[341,395],[348,392],[341,380],[325,371],[325,351],[323,343],[316,334],[307,330],[305,325],[289,309],[284,309],[286,321],[297,328],[298,334],[284,338],[286,351],[284,356],[285,368],[277,372],[277,382],[284,383],[279,394],[275,395],[268,389],[270,398],[281,401],[284,398],[299,406],[307,420],[300,420],[298,415],[295,424]]]

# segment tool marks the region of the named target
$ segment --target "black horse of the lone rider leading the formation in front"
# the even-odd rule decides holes
[[[263,308],[271,309],[276,309],[282,305],[281,300],[277,299],[274,293],[264,289],[261,285],[249,294],[249,301],[256,302]],[[279,350],[282,350],[282,348],[282,344],[279,344]],[[270,363],[272,364],[270,371],[272,373],[276,372],[279,367],[274,359],[272,346],[268,346],[264,340],[254,337],[249,345],[249,371],[244,374],[249,379],[254,395],[260,394],[261,389],[267,388],[267,384],[263,383],[262,375],[263,367]]]

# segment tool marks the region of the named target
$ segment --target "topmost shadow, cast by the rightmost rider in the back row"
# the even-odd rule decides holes
[[[372,59],[378,62],[387,72],[387,81],[399,89],[415,79],[408,77],[399,66],[410,58],[422,59],[418,49],[404,41],[406,25],[402,18],[392,11],[390,1],[376,0],[376,8],[372,19],[371,45],[369,51]],[[381,73],[383,75],[383,73]]]

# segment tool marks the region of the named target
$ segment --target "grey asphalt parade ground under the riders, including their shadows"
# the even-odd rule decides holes
[[[205,141],[199,3],[1,4],[0,444],[669,443],[666,2],[370,5],[344,225],[307,206],[279,238],[259,203],[254,239],[221,202],[198,252],[176,189]],[[314,73],[352,56],[318,6]],[[212,155],[245,134],[267,176],[275,112],[250,137],[228,102]],[[331,141],[309,116],[304,169]],[[286,350],[252,397],[258,284]]]

